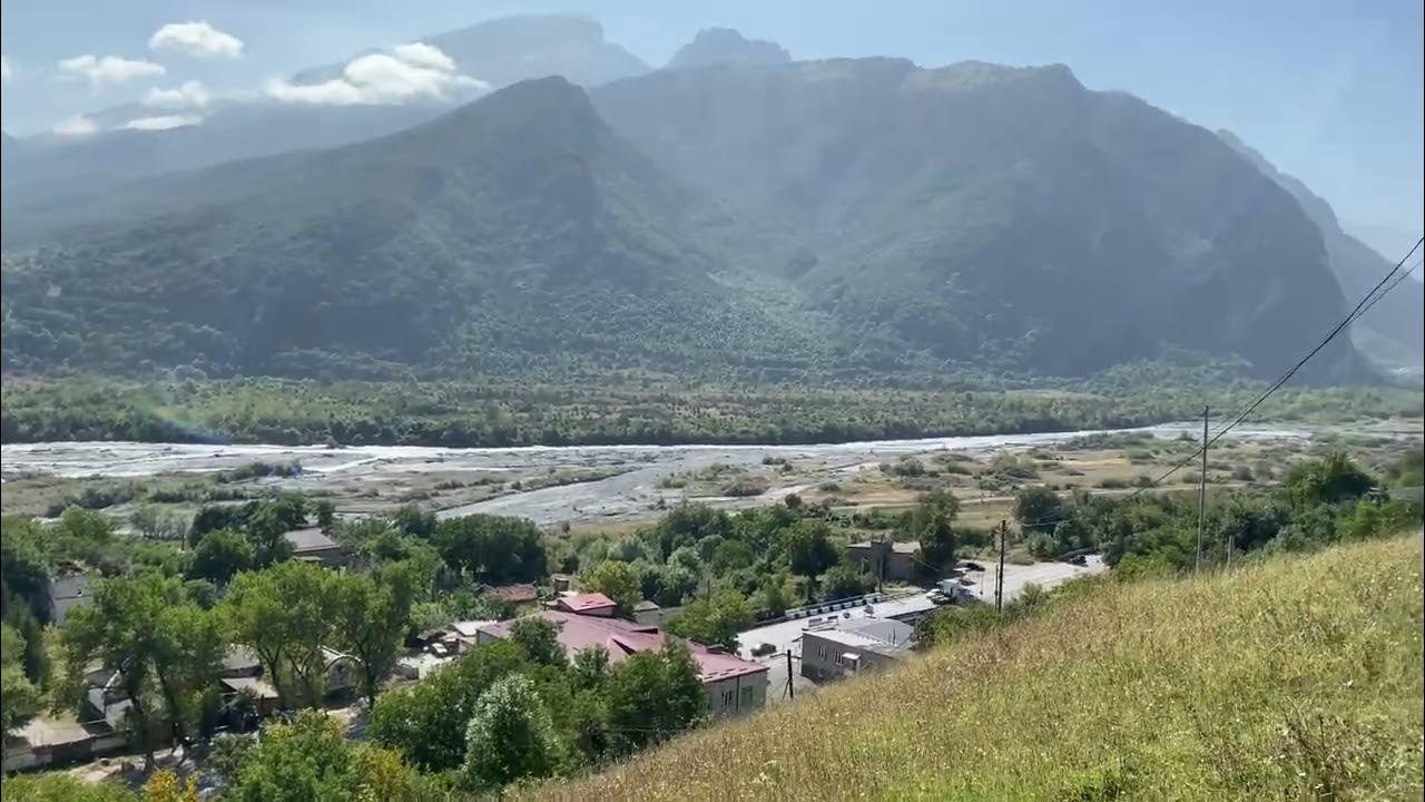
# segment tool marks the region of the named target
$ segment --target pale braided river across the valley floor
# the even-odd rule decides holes
[[[1163,424],[1139,431],[1173,438],[1196,434],[1197,424]],[[390,487],[419,478],[418,474],[472,474],[537,477],[559,469],[601,469],[617,472],[606,478],[509,492],[475,504],[449,507],[443,517],[470,512],[522,515],[537,524],[577,522],[648,515],[660,504],[675,502],[681,491],[660,487],[670,474],[698,471],[721,462],[734,468],[761,467],[764,457],[784,458],[797,465],[799,484],[782,484],[761,497],[704,498],[720,507],[750,507],[798,492],[896,460],[933,451],[986,452],[1000,448],[1052,445],[1100,431],[1009,434],[983,437],[939,437],[922,440],[879,440],[824,445],[560,445],[520,448],[433,448],[405,445],[201,445],[164,442],[34,442],[0,447],[0,465],[7,479],[20,475],[140,478],[168,472],[208,472],[245,462],[292,462],[302,474],[281,479],[294,489],[370,484]],[[1237,440],[1305,438],[1292,428],[1233,430]]]

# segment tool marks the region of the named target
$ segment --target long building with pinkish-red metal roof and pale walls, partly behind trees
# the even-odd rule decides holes
[[[656,652],[664,644],[657,626],[610,615],[580,615],[564,609],[547,609],[539,615],[559,628],[559,642],[570,658],[587,648],[603,646],[608,662],[618,664],[638,652]],[[499,621],[482,626],[480,642],[509,638],[512,625],[512,621]],[[698,665],[698,679],[707,689],[711,715],[745,714],[767,704],[765,665],[701,644],[690,642],[688,651]]]

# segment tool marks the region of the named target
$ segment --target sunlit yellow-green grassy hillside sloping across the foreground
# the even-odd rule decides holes
[[[1418,799],[1418,535],[1109,585],[546,799]]]

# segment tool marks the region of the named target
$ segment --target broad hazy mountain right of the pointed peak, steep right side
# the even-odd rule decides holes
[[[779,221],[801,248],[764,268],[868,347],[1077,374],[1166,342],[1270,374],[1342,310],[1287,193],[1062,66],[714,66],[593,97],[675,176]]]

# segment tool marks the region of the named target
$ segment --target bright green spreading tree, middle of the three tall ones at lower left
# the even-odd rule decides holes
[[[292,699],[288,678],[299,684],[305,704],[321,702],[322,646],[332,641],[338,616],[332,577],[305,562],[279,562],[238,574],[219,605],[234,639],[262,661],[284,706]]]

